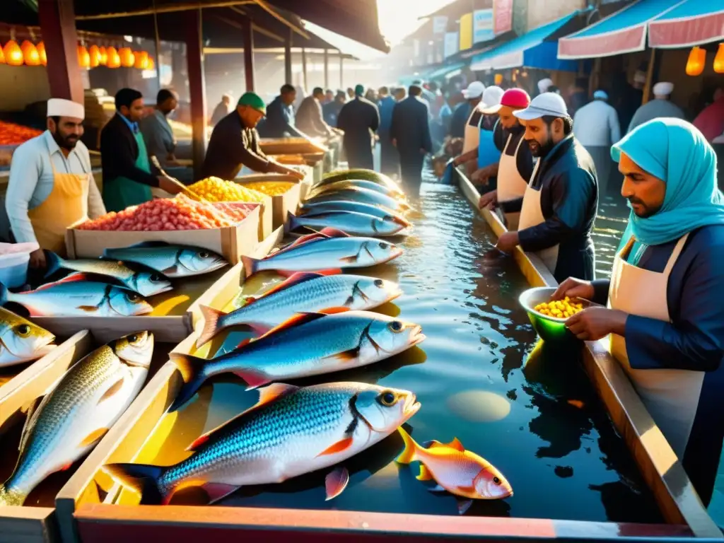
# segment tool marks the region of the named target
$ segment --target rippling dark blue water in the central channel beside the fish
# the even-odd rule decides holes
[[[418,442],[458,437],[513,486],[513,497],[476,502],[469,515],[661,521],[578,353],[536,347],[517,303],[528,285],[512,260],[484,258],[492,248],[487,224],[450,186],[424,185],[417,206],[413,235],[400,242],[405,254],[368,273],[396,280],[405,292],[379,311],[421,324],[428,339],[365,369],[295,384],[358,380],[416,392],[422,408],[409,429]],[[224,346],[239,337],[230,334]],[[192,403],[164,417],[135,461],[182,460],[193,439],[256,398],[233,376],[211,380]],[[415,479],[416,464],[394,462],[401,449],[393,434],[349,460],[350,484],[329,502],[325,473],[312,473],[240,489],[221,505],[456,515],[454,497],[432,494]]]

